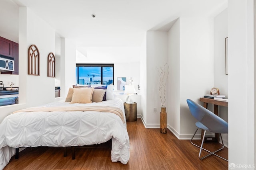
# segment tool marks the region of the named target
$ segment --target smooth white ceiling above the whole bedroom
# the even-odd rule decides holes
[[[30,8],[77,47],[140,46],[146,31],[168,31],[180,16],[213,17],[227,8],[227,0],[12,1]]]

